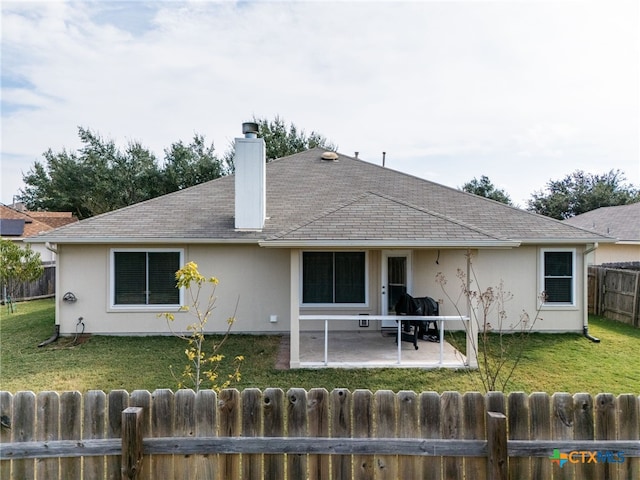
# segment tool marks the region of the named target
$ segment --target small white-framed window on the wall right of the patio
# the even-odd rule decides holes
[[[576,250],[544,248],[540,255],[541,287],[545,305],[576,304]]]

